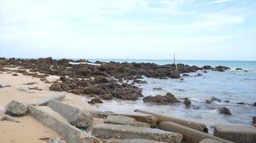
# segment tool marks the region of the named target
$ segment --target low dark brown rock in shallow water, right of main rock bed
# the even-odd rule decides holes
[[[178,102],[178,99],[176,99],[176,97],[174,97],[173,94],[167,93],[165,96],[156,95],[155,97],[152,97],[152,96],[144,97],[143,102],[146,102],[146,103],[153,102],[156,104],[171,104],[171,103]]]

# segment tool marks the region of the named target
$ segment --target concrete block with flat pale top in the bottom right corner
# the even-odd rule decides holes
[[[214,136],[233,142],[256,142],[256,127],[245,125],[216,125]]]

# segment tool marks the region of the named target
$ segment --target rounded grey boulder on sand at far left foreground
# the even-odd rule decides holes
[[[27,114],[27,104],[12,100],[12,102],[6,104],[5,114],[11,116],[23,116],[24,114]]]

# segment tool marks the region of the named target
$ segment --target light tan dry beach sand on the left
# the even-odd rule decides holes
[[[45,84],[40,81],[39,78],[24,76],[23,74],[18,74],[18,76],[12,76],[12,74],[6,74],[7,72],[0,73],[0,84],[2,86],[10,85],[12,87],[4,87],[0,89],[0,115],[4,114],[4,107],[6,104],[15,99],[19,102],[33,103],[40,100],[42,97],[52,96],[53,94],[65,94],[66,97],[63,102],[72,104],[76,107],[82,107],[84,109],[96,109],[81,100],[81,96],[65,92],[52,92],[49,90],[50,84]],[[13,72],[14,73],[14,72]],[[56,76],[47,77],[49,81],[55,81],[59,79]],[[27,85],[29,82],[36,82],[36,84]],[[38,87],[42,91],[29,90],[29,92],[20,92],[17,89],[20,87]],[[32,117],[14,117],[19,121],[8,122],[0,121],[0,142],[45,142],[40,140],[40,137],[61,137],[57,132],[53,131],[44,124],[41,124]],[[94,119],[94,122],[103,122],[102,119]]]

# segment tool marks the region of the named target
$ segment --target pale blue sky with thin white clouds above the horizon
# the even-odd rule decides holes
[[[256,61],[255,0],[0,0],[0,57]]]

